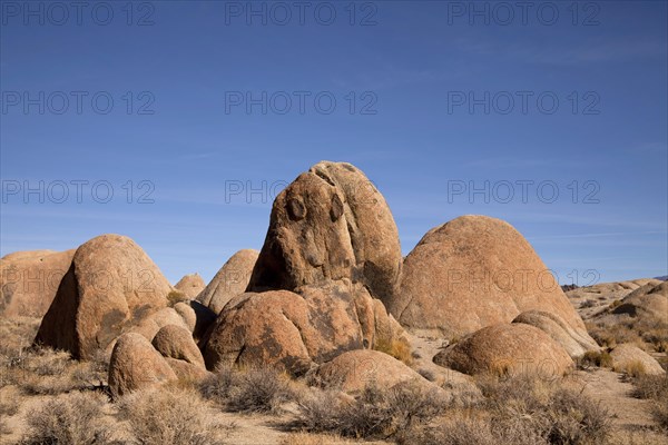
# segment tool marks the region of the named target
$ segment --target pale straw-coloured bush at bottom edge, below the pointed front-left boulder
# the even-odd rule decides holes
[[[118,402],[132,443],[141,445],[223,444],[234,426],[215,422],[215,411],[195,390],[164,386],[129,394]]]

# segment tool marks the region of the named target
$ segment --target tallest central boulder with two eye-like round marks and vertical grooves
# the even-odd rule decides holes
[[[390,298],[401,260],[383,196],[354,166],[323,161],[274,200],[248,290],[296,290],[347,278],[374,297]]]

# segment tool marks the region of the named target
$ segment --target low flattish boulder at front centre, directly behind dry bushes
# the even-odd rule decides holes
[[[315,380],[322,387],[358,394],[366,386],[390,388],[403,382],[438,387],[396,358],[377,350],[351,350],[321,365]]]

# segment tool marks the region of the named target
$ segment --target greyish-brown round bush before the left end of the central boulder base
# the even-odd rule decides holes
[[[220,367],[202,383],[200,392],[227,411],[246,413],[278,413],[296,397],[287,375],[269,367]]]

